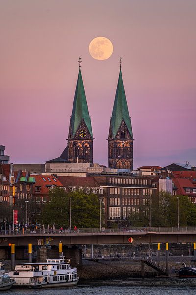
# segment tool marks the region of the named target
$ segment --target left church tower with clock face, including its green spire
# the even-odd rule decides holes
[[[70,118],[68,160],[71,163],[93,163],[93,132],[82,81],[81,58]]]

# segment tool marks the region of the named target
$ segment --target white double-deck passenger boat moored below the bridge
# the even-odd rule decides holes
[[[78,282],[77,268],[70,266],[70,260],[47,259],[46,263],[16,265],[15,271],[8,272],[15,278],[18,288],[51,288],[75,286]]]

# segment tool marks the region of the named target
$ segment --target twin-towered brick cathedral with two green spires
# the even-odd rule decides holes
[[[133,132],[120,72],[108,135],[108,167],[133,170]],[[59,158],[49,162],[93,163],[93,132],[81,73],[81,58],[72,115],[68,132],[68,146]]]

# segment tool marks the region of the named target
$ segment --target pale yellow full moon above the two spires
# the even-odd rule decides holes
[[[113,53],[112,42],[105,37],[97,37],[89,44],[89,53],[94,59],[108,59]]]

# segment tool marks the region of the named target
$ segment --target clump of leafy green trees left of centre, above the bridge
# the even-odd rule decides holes
[[[56,227],[69,227],[69,200],[71,198],[71,226],[99,227],[99,198],[83,192],[66,193],[59,188],[49,193],[50,202],[43,208],[42,222]],[[103,214],[102,214],[103,217]],[[103,218],[102,218],[103,219]]]

